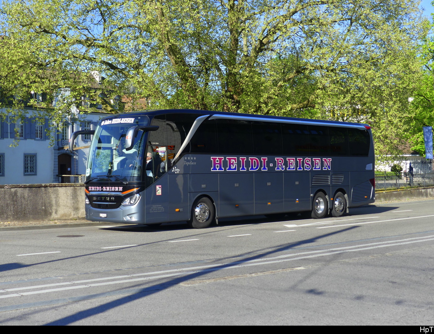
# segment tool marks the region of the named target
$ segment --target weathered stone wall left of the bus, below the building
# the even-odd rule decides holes
[[[0,185],[0,222],[84,218],[84,185]]]

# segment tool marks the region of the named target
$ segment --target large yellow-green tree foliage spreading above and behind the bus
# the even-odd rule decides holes
[[[386,154],[398,147],[419,80],[417,8],[416,0],[3,0],[0,86],[16,110],[29,89],[66,92],[50,110],[56,120],[86,95],[109,112],[122,96],[131,109],[146,99],[152,109],[372,122]],[[101,87],[89,89],[90,71],[106,78]]]

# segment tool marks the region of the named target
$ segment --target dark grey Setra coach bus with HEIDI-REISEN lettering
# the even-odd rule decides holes
[[[340,217],[375,200],[367,124],[170,109],[107,116],[92,134],[86,219],[206,228],[219,218]]]

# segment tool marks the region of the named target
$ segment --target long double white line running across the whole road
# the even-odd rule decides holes
[[[254,260],[242,260],[242,261],[234,261],[234,262],[230,262],[230,263],[219,263],[219,264],[214,264],[214,265],[202,265],[202,266],[190,267],[190,268],[168,269],[168,270],[154,271],[154,272],[148,272],[148,273],[112,276],[112,277],[105,277],[105,278],[93,278],[93,279],[83,280],[83,281],[61,282],[61,283],[55,283],[55,284],[38,285],[38,286],[33,286],[33,287],[4,289],[4,290],[0,290],[0,292],[16,291],[16,290],[20,290],[20,289],[43,288],[43,287],[51,287],[51,286],[64,285],[64,284],[77,284],[77,283],[85,283],[85,282],[90,282],[90,281],[103,281],[103,280],[110,280],[110,279],[117,279],[117,278],[128,278],[128,277],[131,278],[131,277],[137,277],[137,276],[148,276],[148,277],[141,277],[141,278],[124,279],[124,280],[119,280],[119,281],[101,282],[101,283],[78,285],[78,286],[72,286],[72,287],[62,287],[62,288],[56,288],[56,289],[47,289],[47,290],[38,290],[38,291],[29,291],[29,292],[15,293],[15,294],[7,294],[7,295],[0,296],[0,298],[20,297],[20,296],[28,295],[28,294],[39,294],[39,293],[46,293],[46,292],[53,292],[53,291],[89,288],[89,287],[101,286],[101,285],[107,285],[107,284],[128,283],[128,282],[144,281],[144,280],[151,280],[151,279],[158,279],[158,278],[168,278],[168,277],[173,277],[173,276],[188,275],[188,274],[195,274],[195,273],[201,274],[201,273],[205,273],[208,271],[217,271],[217,270],[224,270],[224,269],[231,269],[231,268],[241,268],[241,267],[255,266],[255,265],[269,265],[271,263],[294,261],[294,260],[300,260],[300,259],[305,259],[305,258],[316,258],[316,257],[320,257],[320,256],[335,255],[335,254],[354,252],[354,251],[363,251],[363,250],[374,249],[374,248],[406,245],[406,244],[411,244],[411,243],[415,243],[415,242],[424,242],[424,241],[432,241],[432,240],[434,240],[434,235],[427,235],[427,236],[423,236],[423,237],[406,238],[406,239],[401,239],[401,240],[379,241],[379,242],[372,242],[372,243],[362,244],[362,245],[353,245],[353,246],[345,246],[345,247],[337,247],[337,248],[329,248],[329,249],[320,249],[320,250],[316,250],[316,251],[305,251],[305,252],[299,252],[299,253],[279,255],[279,256],[276,256],[273,258],[266,258],[266,259],[258,258],[258,259],[254,259]],[[154,276],[149,276],[149,275],[154,275]]]

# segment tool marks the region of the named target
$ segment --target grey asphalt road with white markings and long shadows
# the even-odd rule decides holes
[[[433,208],[1,231],[0,324],[432,325]]]

